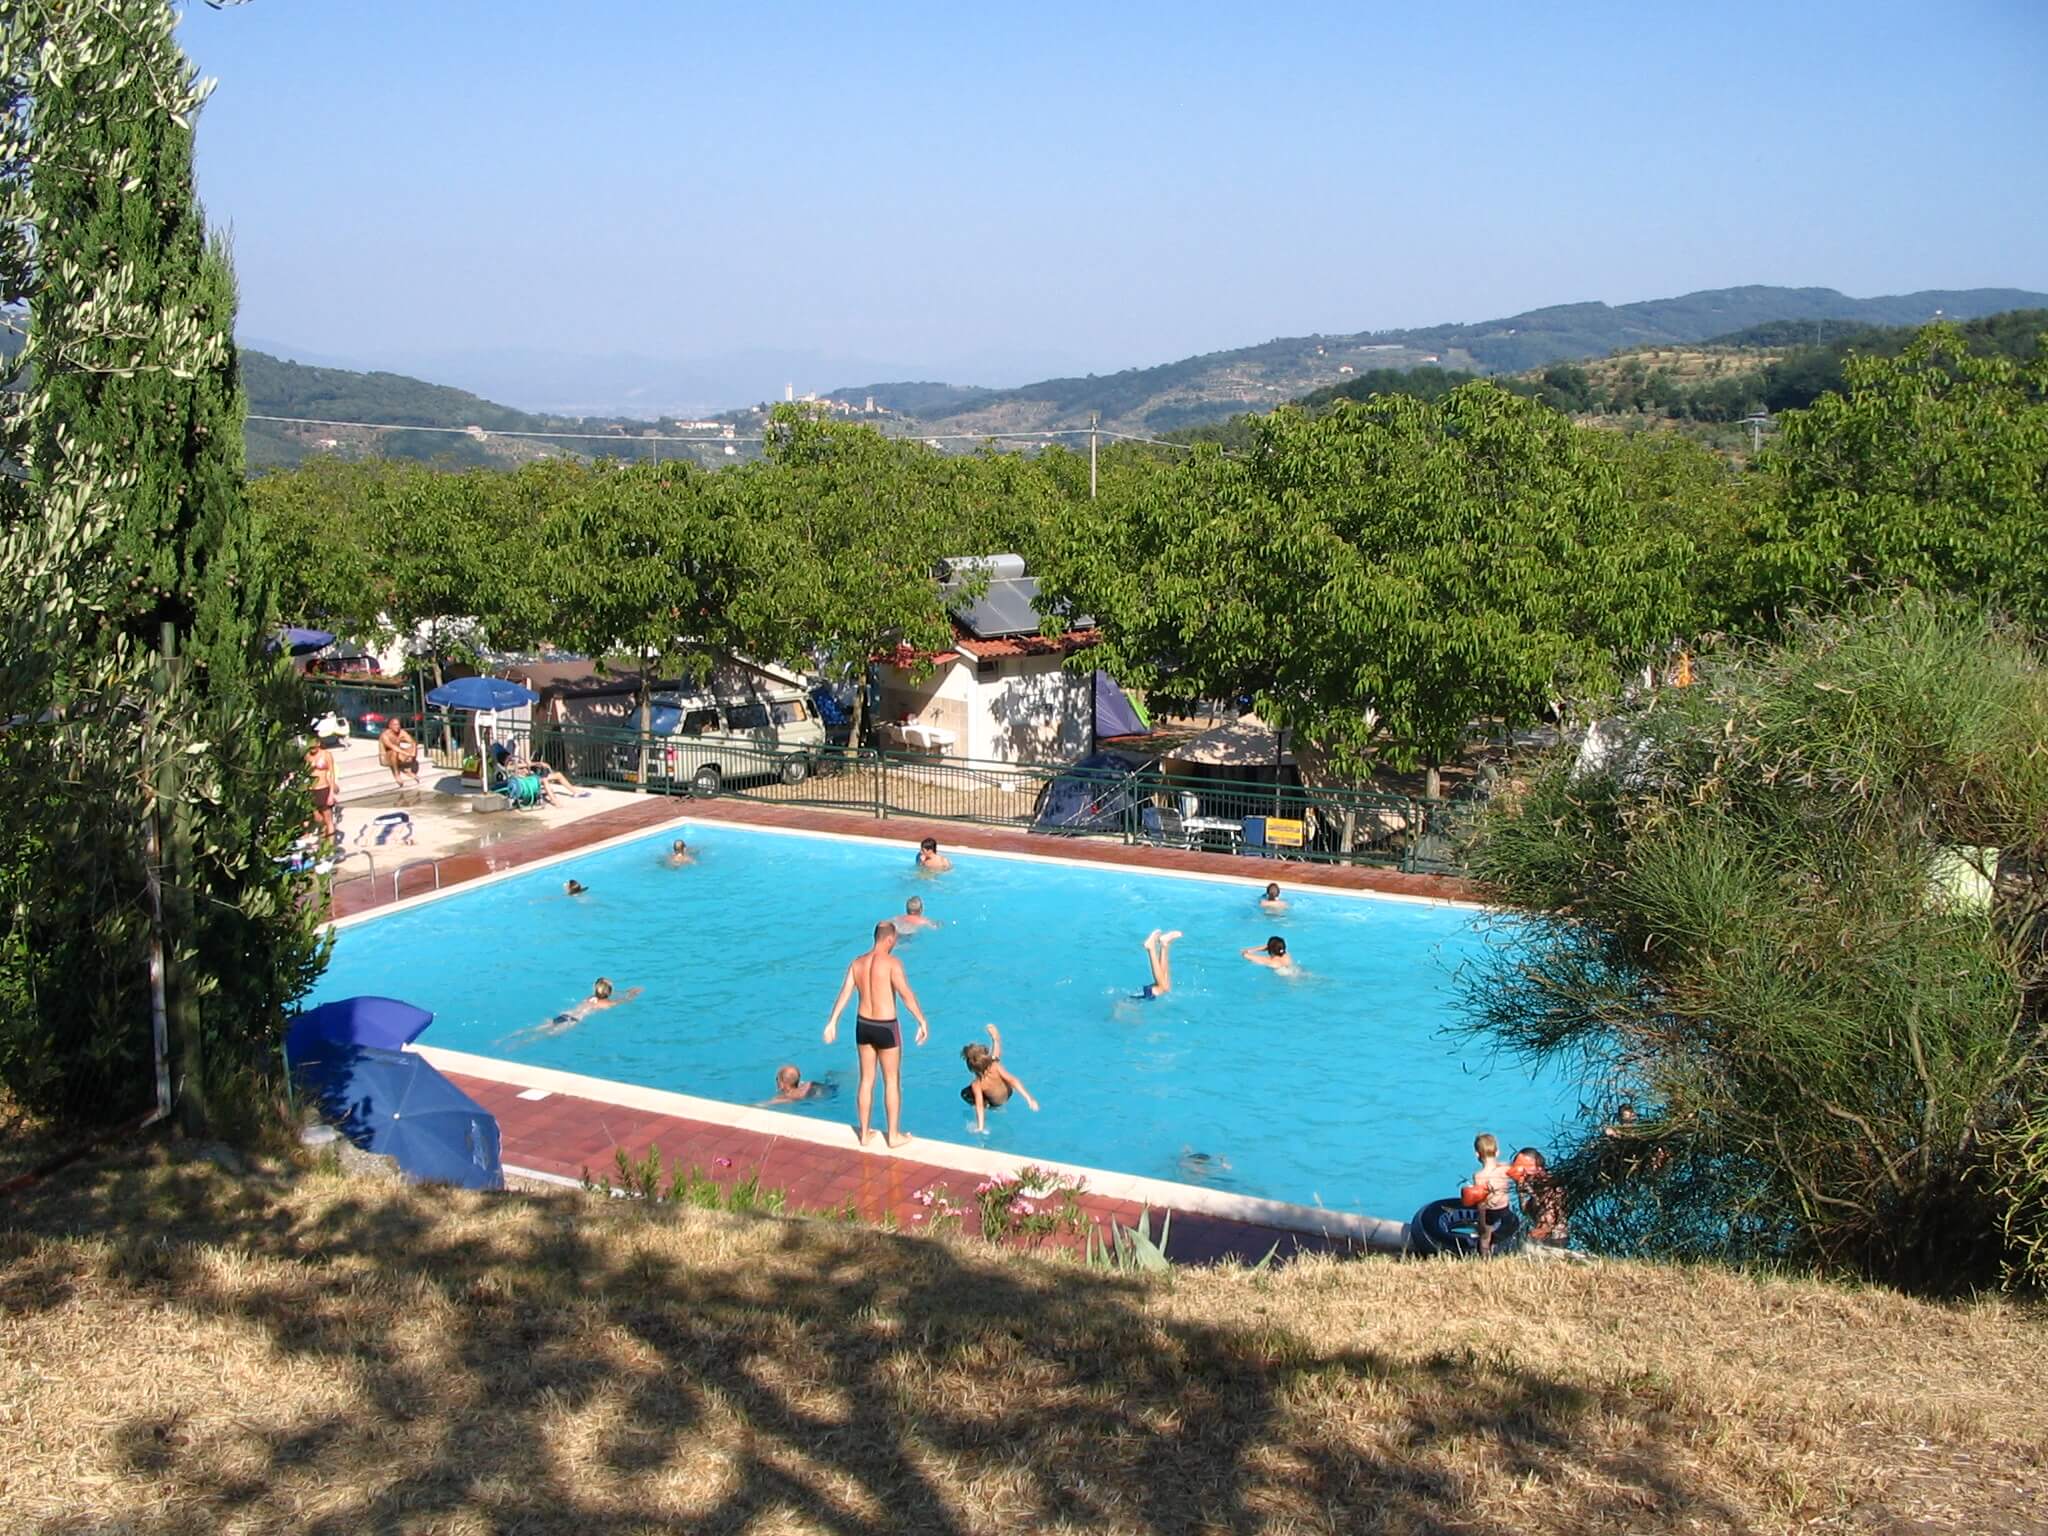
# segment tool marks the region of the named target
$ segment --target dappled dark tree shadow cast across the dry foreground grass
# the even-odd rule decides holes
[[[1317,1348],[1249,1278],[1204,1313],[821,1221],[332,1188],[129,1165],[0,1214],[23,1311],[145,1298],[348,1397],[150,1401],[100,1446],[115,1487],[41,1530],[1743,1524],[1655,1434],[1616,1434],[1626,1403],[1468,1350]],[[66,1276],[37,1235],[109,1247]],[[195,1243],[285,1264],[223,1278]],[[1571,1481],[1571,1518],[1489,1499],[1503,1479]]]

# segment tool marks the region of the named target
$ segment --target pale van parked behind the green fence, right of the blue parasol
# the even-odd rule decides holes
[[[803,692],[788,688],[754,698],[657,694],[649,715],[647,784],[688,782],[717,795],[727,780],[778,778],[801,784],[825,752],[825,727]],[[639,748],[612,748],[610,770],[639,780]]]

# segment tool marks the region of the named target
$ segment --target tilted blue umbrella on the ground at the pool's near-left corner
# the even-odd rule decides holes
[[[340,1040],[293,1059],[299,1083],[362,1151],[391,1157],[408,1178],[502,1190],[498,1118],[412,1051]]]

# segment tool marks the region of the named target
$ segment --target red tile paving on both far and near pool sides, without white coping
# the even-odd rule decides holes
[[[440,860],[440,885],[446,889],[483,874],[588,848],[608,838],[653,829],[676,819],[834,831],[903,846],[911,846],[922,838],[938,838],[942,848],[1051,854],[1124,868],[1186,870],[1243,881],[1280,879],[1282,885],[1335,891],[1378,891],[1448,901],[1481,899],[1473,883],[1442,874],[1403,874],[1399,870],[1346,864],[1274,864],[1237,854],[1130,848],[1087,838],[1042,838],[952,821],[883,819],[737,799],[686,801],[653,795],[635,805],[600,811],[573,825],[537,831],[530,838],[444,858]],[[371,891],[369,885],[371,881],[358,881],[338,887],[332,897],[332,915],[346,918],[391,903],[389,889]],[[420,895],[420,891],[414,889],[414,895]],[[731,1186],[752,1174],[764,1188],[782,1190],[793,1210],[838,1212],[850,1204],[864,1221],[893,1219],[905,1231],[915,1231],[930,1225],[932,1210],[913,1196],[936,1188],[944,1190],[952,1204],[961,1208],[967,1231],[979,1229],[975,1206],[975,1186],[981,1182],[979,1174],[924,1163],[909,1155],[868,1155],[852,1145],[838,1149],[815,1141],[772,1137],[739,1126],[633,1110],[569,1094],[522,1100],[516,1085],[479,1077],[455,1075],[455,1081],[498,1116],[504,1161],[514,1167],[528,1167],[539,1174],[571,1180],[582,1178],[588,1169],[594,1178],[602,1180],[608,1174],[616,1174],[614,1155],[618,1149],[625,1149],[629,1157],[639,1157],[647,1147],[659,1145],[664,1169],[670,1169],[678,1161],[684,1167],[696,1165],[723,1186]],[[848,1130],[848,1141],[852,1141],[852,1130]],[[1110,1219],[1124,1225],[1137,1221],[1139,1206],[1128,1200],[1085,1194],[1081,1196],[1081,1212],[1106,1233]],[[1157,1210],[1153,1217],[1157,1225]],[[1083,1239],[1049,1241],[1079,1247]],[[1169,1249],[1171,1257],[1180,1264],[1214,1264],[1225,1257],[1255,1262],[1276,1243],[1282,1257],[1307,1251],[1354,1251],[1358,1247],[1350,1237],[1286,1231],[1196,1210],[1174,1212]]]

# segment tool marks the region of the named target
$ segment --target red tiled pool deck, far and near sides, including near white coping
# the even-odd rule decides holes
[[[1425,901],[1479,901],[1468,881],[1436,874],[1354,868],[1337,864],[1288,862],[1276,866],[1237,854],[1202,854],[1176,848],[1128,848],[1081,838],[1034,838],[1022,831],[971,827],[952,821],[911,817],[868,817],[750,801],[682,801],[647,797],[633,805],[600,811],[573,825],[535,831],[530,838],[438,860],[440,889],[502,874],[528,864],[575,854],[602,842],[651,831],[664,825],[725,821],[782,831],[825,831],[913,846],[938,838],[942,848],[995,854],[1071,858],[1092,864],[1149,872],[1229,877],[1245,883],[1280,879],[1284,887],[1323,891],[1372,891]],[[334,918],[356,918],[393,905],[389,895],[342,885],[332,893]],[[362,887],[362,889],[358,889]],[[414,897],[418,899],[418,895]],[[932,1223],[932,1206],[920,1194],[944,1192],[963,1212],[967,1231],[979,1225],[975,1186],[1006,1176],[1030,1161],[1061,1169],[1044,1159],[993,1153],[942,1141],[913,1141],[901,1151],[862,1149],[852,1124],[819,1120],[766,1108],[745,1108],[682,1094],[580,1077],[545,1067],[471,1057],[418,1047],[434,1065],[455,1077],[485,1110],[498,1116],[502,1157],[508,1174],[539,1180],[580,1182],[616,1176],[616,1153],[641,1157],[659,1147],[664,1169],[696,1167],[719,1184],[748,1176],[762,1188],[780,1190],[791,1210],[844,1214],[893,1223],[920,1231]],[[852,1102],[846,1102],[848,1120]],[[877,1118],[881,1104],[877,1108]],[[1196,1184],[1169,1184],[1102,1169],[1061,1169],[1085,1178],[1079,1200],[1085,1223],[1108,1231],[1110,1221],[1130,1225],[1141,1208],[1155,1217],[1174,1212],[1169,1251],[1176,1264],[1257,1262],[1278,1245],[1280,1257],[1321,1251],[1399,1251],[1405,1227],[1399,1221],[1255,1200]],[[1057,1247],[1079,1247],[1083,1237],[1044,1239]]]

